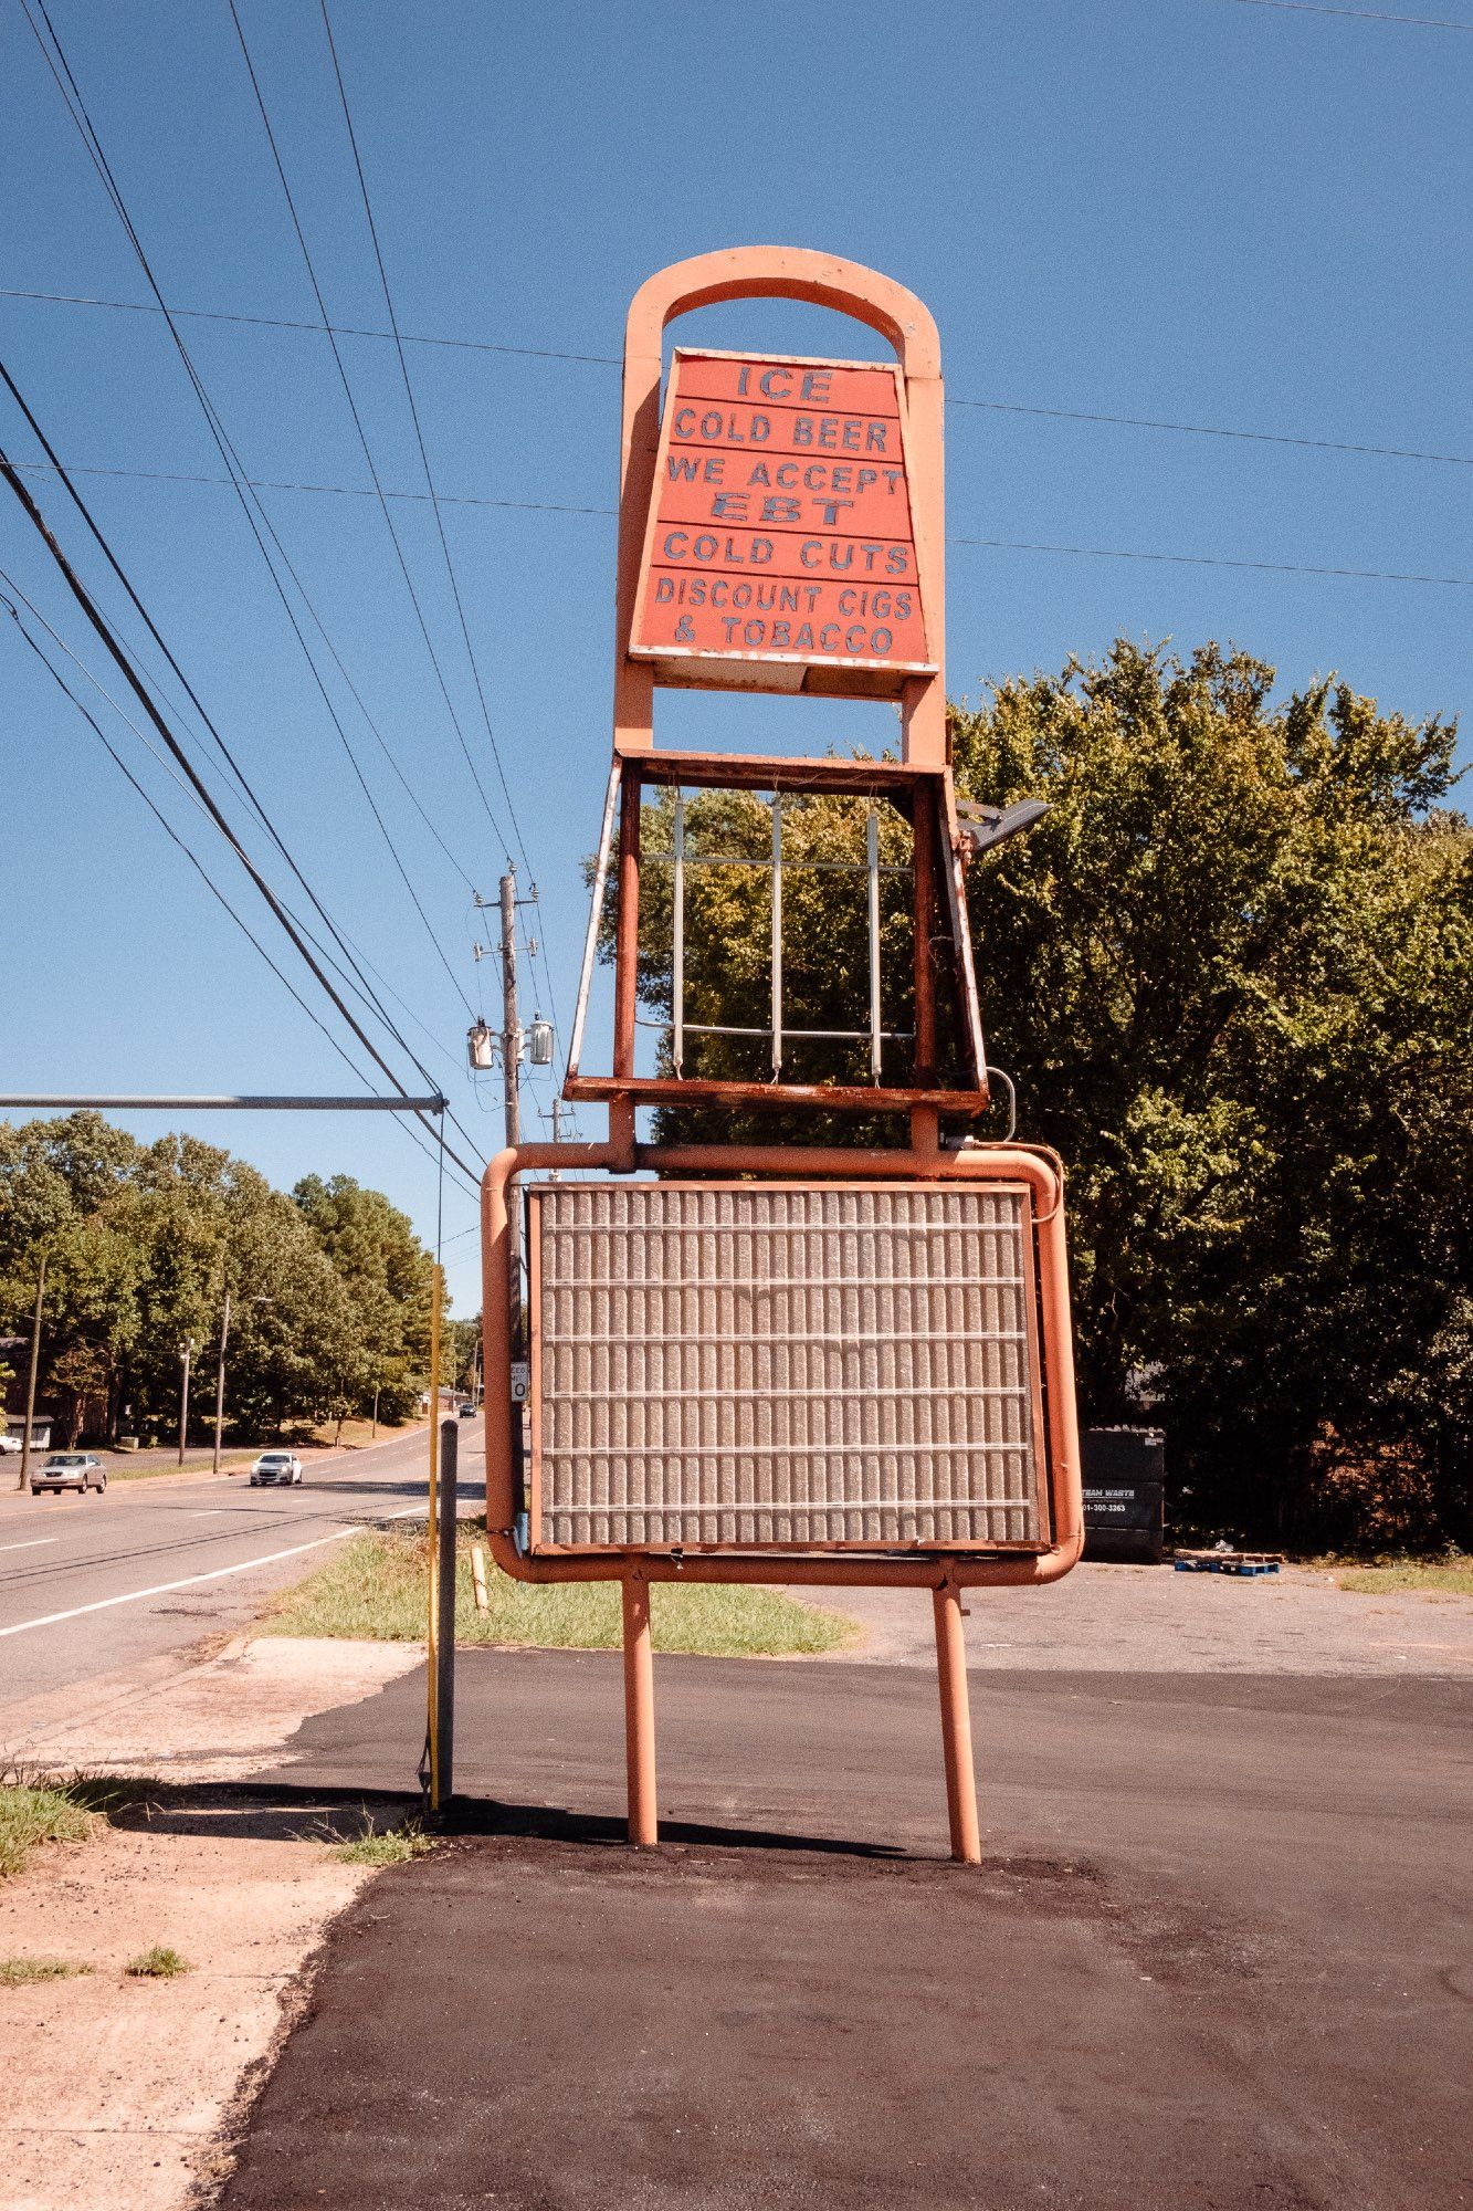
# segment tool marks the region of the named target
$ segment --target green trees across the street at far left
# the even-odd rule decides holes
[[[226,1293],[237,1435],[416,1411],[431,1254],[352,1176],[310,1174],[288,1196],[197,1136],[144,1145],[95,1112],[0,1123],[0,1380],[29,1358],[42,1254],[38,1402],[58,1442],[175,1435],[186,1344],[206,1369],[203,1433]]]

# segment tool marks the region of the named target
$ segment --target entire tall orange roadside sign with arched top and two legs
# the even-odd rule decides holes
[[[867,323],[894,363],[677,349],[694,307],[796,298]],[[502,1152],[482,1185],[487,1532],[522,1581],[617,1579],[630,1837],[655,1842],[652,1581],[889,1583],[936,1607],[953,1855],[980,1855],[962,1590],[1040,1585],[1084,1541],[1064,1172],[1024,1143],[942,1143],[986,1108],[944,712],[940,345],[927,307],[874,270],[741,248],[650,276],[624,360],[615,763],[564,1094],[608,1101],[608,1143]],[[655,688],[880,696],[902,758],[657,754]],[[672,794],[672,1008],[657,1075],[635,1072],[644,785]],[[683,794],[772,794],[767,1081],[699,1079],[681,997]],[[869,1028],[794,1030],[783,1004],[783,805],[869,809]],[[911,1028],[885,1030],[878,831],[909,825]],[[617,811],[617,838],[615,838]],[[615,1048],[579,1075],[597,926],[615,865]],[[759,865],[750,856],[734,862]],[[942,1019],[942,991],[951,1015]],[[955,1070],[938,1070],[938,1035]],[[867,1044],[869,1083],[796,1083],[794,1037]],[[900,1068],[885,1048],[909,1046]],[[889,1083],[885,1081],[889,1075]],[[896,1079],[900,1075],[900,1079]],[[650,1145],[641,1103],[905,1114],[894,1150]],[[617,1203],[531,1192],[529,1313],[511,1296],[518,1183],[540,1170],[655,1174]],[[796,1198],[794,1198],[796,1194]],[[792,1203],[790,1203],[792,1201]],[[801,1203],[798,1203],[801,1201]],[[812,1201],[812,1203],[807,1203]],[[807,1205],[807,1212],[805,1212]],[[520,1380],[513,1384],[513,1369]],[[984,1402],[986,1400],[986,1402]]]

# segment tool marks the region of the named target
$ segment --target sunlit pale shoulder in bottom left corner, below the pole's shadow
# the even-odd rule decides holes
[[[0,1990],[7,2211],[177,2211],[212,2187],[237,2098],[365,1877],[321,1840],[108,1828],[4,1882],[0,1955],[88,1968]],[[192,1970],[130,1979],[155,1943]]]

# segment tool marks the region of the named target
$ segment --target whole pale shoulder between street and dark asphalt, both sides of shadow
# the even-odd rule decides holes
[[[237,1636],[184,1672],[159,1660],[86,1698],[66,1689],[7,1714],[33,1769],[168,1784],[0,1882],[0,1959],[86,1968],[0,1988],[7,2211],[184,2211],[212,2196],[237,2114],[305,2001],[312,1957],[369,1879],[332,1842],[394,1817],[372,1798],[272,1802],[228,1784],[279,1769],[303,1720],[420,1663],[422,1645]],[[409,1773],[396,1780],[411,1786]],[[128,1977],[126,1961],[155,1943],[192,1970]]]

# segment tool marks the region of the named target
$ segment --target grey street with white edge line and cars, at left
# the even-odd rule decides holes
[[[245,1625],[361,1521],[422,1517],[427,1477],[420,1428],[318,1459],[290,1490],[203,1475],[0,1499],[0,1722],[27,1698]],[[460,1492],[462,1510],[484,1501],[480,1422],[460,1428]]]

